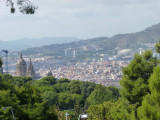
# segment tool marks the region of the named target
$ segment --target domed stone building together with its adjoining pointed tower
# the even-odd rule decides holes
[[[16,64],[16,75],[22,76],[22,77],[32,77],[35,78],[35,71],[31,62],[31,59],[29,61],[29,66],[27,69],[27,64],[25,60],[22,57],[22,54],[20,55],[17,64]]]

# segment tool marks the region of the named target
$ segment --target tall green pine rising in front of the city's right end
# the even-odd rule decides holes
[[[121,96],[131,104],[141,105],[143,97],[150,93],[148,79],[157,65],[156,58],[152,56],[151,50],[146,50],[143,55],[135,54],[130,64],[123,68]]]

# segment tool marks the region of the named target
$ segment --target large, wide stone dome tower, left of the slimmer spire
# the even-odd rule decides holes
[[[21,54],[19,57],[19,60],[17,61],[17,64],[16,64],[16,74],[18,76],[25,77],[26,72],[27,72],[27,64]]]

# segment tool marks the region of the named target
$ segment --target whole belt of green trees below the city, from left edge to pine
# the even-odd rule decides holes
[[[100,104],[118,99],[118,96],[117,88],[91,82],[66,78],[57,80],[54,77],[33,80],[0,74],[0,119],[12,119],[9,109],[3,111],[4,107],[9,106],[16,119],[20,120],[63,120],[62,110],[70,112],[68,119],[76,120],[79,114],[86,111],[85,103]]]

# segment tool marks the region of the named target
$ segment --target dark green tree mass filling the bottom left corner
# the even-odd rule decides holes
[[[11,107],[20,120],[57,119],[53,109],[46,106],[41,91],[31,81],[28,77],[0,75],[1,119],[12,119],[10,109],[3,110],[4,107]]]

